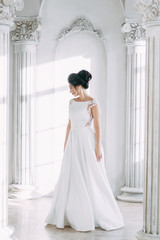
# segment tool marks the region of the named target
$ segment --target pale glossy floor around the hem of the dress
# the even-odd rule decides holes
[[[77,232],[70,227],[45,226],[51,198],[9,200],[9,225],[15,228],[18,240],[135,240],[136,232],[142,229],[143,205],[117,202],[126,224],[119,230],[107,232],[96,228],[95,231]]]

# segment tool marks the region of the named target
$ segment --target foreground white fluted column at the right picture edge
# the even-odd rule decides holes
[[[160,0],[139,1],[146,28],[145,183],[143,229],[137,239],[160,239]]]

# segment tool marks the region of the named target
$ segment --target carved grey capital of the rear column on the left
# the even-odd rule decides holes
[[[32,43],[37,44],[40,39],[40,19],[39,18],[16,18],[15,30],[11,32],[14,44]]]

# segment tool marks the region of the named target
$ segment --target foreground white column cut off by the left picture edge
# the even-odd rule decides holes
[[[11,240],[14,228],[8,226],[8,127],[9,127],[9,31],[13,14],[23,1],[0,2],[0,239]]]

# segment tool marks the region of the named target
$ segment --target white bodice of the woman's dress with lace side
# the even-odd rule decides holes
[[[69,117],[71,119],[71,128],[81,128],[91,126],[92,113],[91,108],[97,104],[95,99],[78,102],[71,99],[69,102]]]

